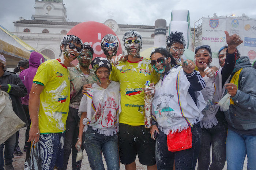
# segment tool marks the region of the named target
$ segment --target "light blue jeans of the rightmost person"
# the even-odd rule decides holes
[[[227,130],[226,156],[228,170],[242,170],[247,155],[247,169],[256,169],[256,136]]]

